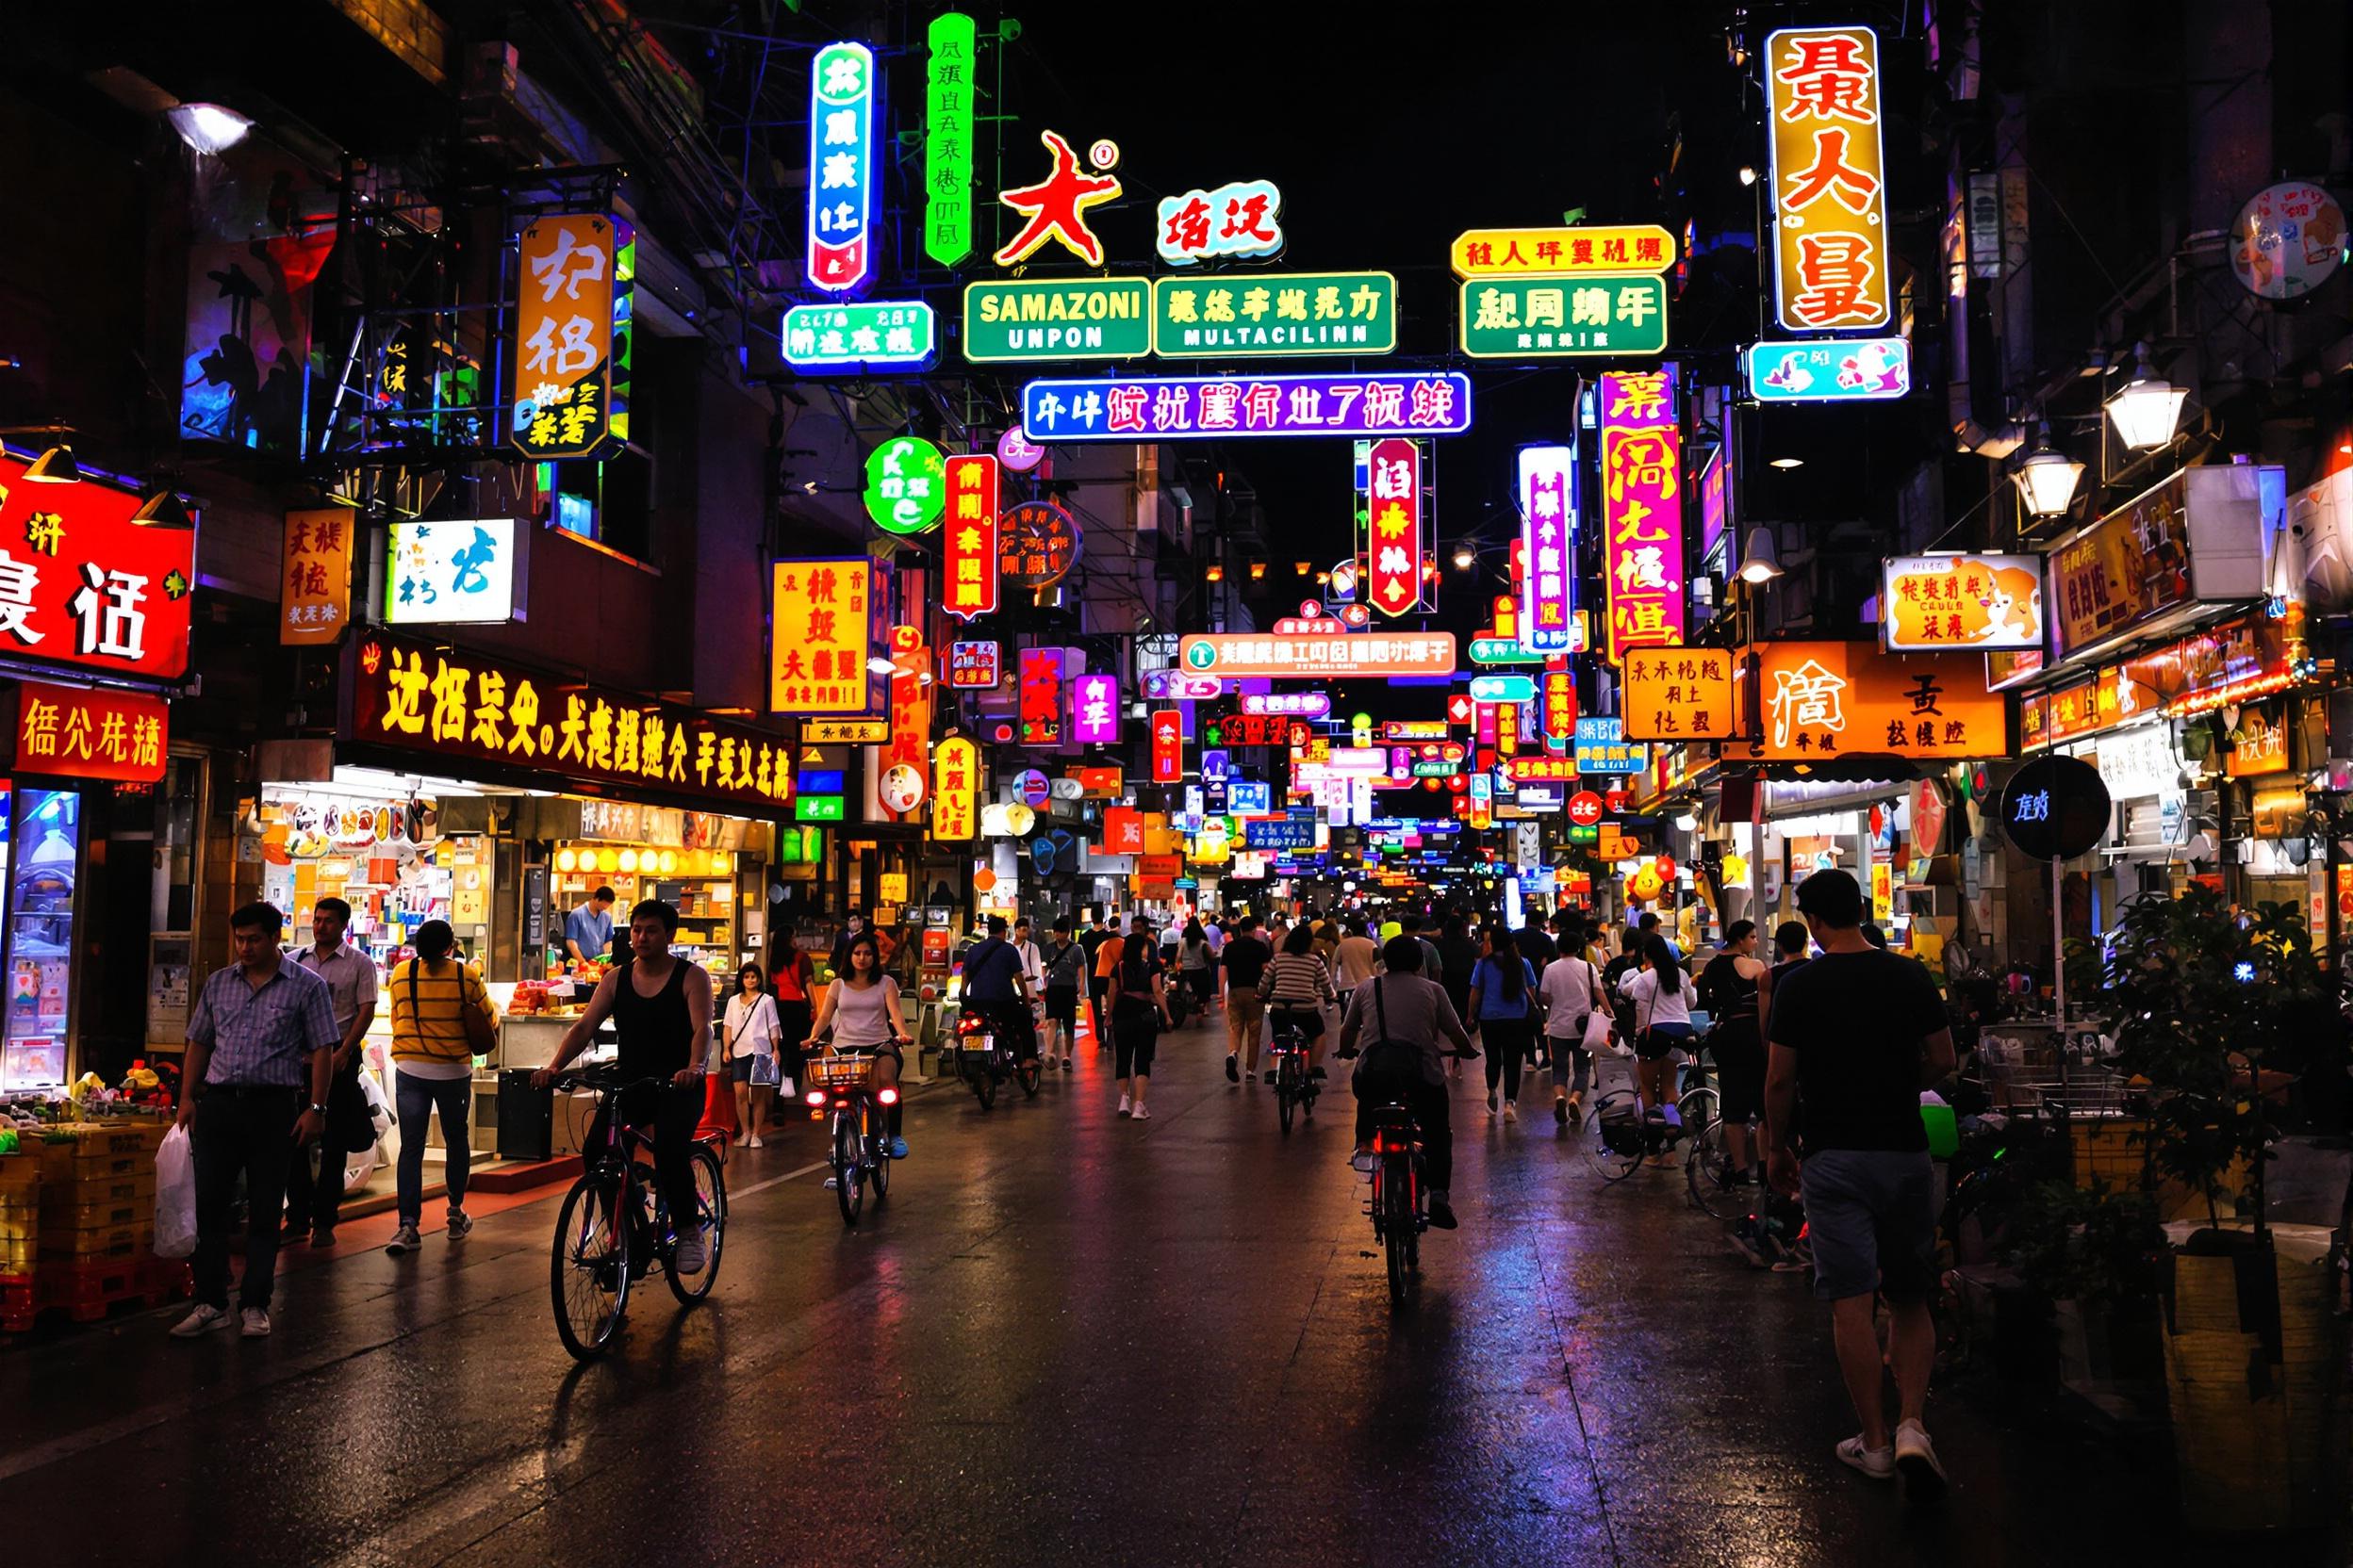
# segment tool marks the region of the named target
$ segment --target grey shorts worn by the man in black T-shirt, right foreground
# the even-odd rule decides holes
[[[1800,1166],[1814,1241],[1814,1295],[1880,1291],[1927,1300],[1937,1286],[1937,1168],[1920,1152],[1819,1150]]]

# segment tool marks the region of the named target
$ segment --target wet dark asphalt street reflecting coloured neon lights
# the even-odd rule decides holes
[[[713,1300],[649,1279],[595,1366],[551,1326],[553,1201],[282,1276],[271,1340],[167,1340],[174,1307],[0,1352],[5,1556],[2198,1561],[2162,1465],[1993,1380],[1932,1403],[1941,1512],[1842,1469],[1805,1279],[1748,1269],[1680,1171],[1605,1190],[1544,1079],[1489,1126],[1468,1067],[1464,1229],[1393,1314],[1346,1086],[1285,1140],[1221,1041],[1162,1044],[1144,1124],[1092,1051],[1038,1103],[918,1093],[854,1232],[819,1126],[736,1150]]]

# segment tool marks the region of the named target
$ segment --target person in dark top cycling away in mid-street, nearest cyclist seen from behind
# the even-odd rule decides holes
[[[1348,997],[1339,1025],[1339,1053],[1365,1060],[1355,1070],[1355,1157],[1372,1152],[1372,1121],[1384,1105],[1405,1105],[1421,1128],[1421,1159],[1431,1180],[1431,1225],[1454,1229],[1447,1182],[1454,1175],[1454,1128],[1447,1119],[1445,1051],[1478,1056],[1454,1001],[1435,980],[1421,978],[1421,940],[1393,936],[1381,947],[1386,976],[1374,976]],[[1362,1041],[1362,1046],[1358,1044]]]

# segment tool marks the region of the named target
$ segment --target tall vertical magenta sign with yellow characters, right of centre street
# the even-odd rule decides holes
[[[1602,423],[1602,588],[1609,595],[1609,658],[1680,644],[1682,435],[1675,371],[1607,374]]]

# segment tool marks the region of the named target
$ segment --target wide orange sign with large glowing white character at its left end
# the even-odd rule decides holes
[[[1868,642],[1762,642],[1753,651],[1760,731],[1748,757],[2009,755],[2005,698],[1986,691],[1984,658],[1882,654]]]

